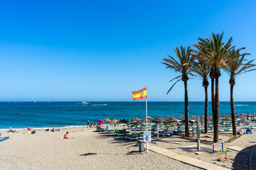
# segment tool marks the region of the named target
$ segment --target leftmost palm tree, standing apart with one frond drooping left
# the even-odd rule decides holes
[[[184,82],[184,88],[185,88],[185,135],[188,136],[188,87],[187,87],[187,81],[188,81],[188,75],[193,75],[191,72],[191,67],[193,65],[193,62],[195,60],[195,57],[192,55],[192,49],[190,46],[180,47],[181,50],[176,47],[174,49],[174,52],[176,53],[178,57],[178,61],[174,59],[174,57],[171,57],[168,55],[169,58],[163,58],[164,62],[161,62],[162,64],[166,65],[166,69],[173,69],[175,72],[180,73],[178,77],[175,77],[174,79],[171,79],[171,81],[176,80],[176,82],[171,86],[169,91],[167,91],[167,94],[173,89],[175,84],[178,81]],[[170,81],[170,82],[171,82]],[[166,95],[167,95],[166,94]]]

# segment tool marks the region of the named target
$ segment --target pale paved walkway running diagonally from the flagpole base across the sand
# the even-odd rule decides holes
[[[159,153],[159,154],[163,154],[166,157],[176,159],[180,162],[184,162],[186,164],[196,166],[196,167],[201,168],[201,169],[209,169],[209,170],[219,170],[219,169],[224,170],[224,169],[226,169],[222,166],[218,166],[218,165],[215,165],[215,164],[210,164],[208,162],[203,162],[201,160],[194,159],[194,158],[191,158],[191,157],[186,157],[183,154],[178,154],[176,152],[172,152],[168,149],[164,149],[164,148],[161,148],[161,147],[156,147],[154,145],[150,145],[149,150],[154,151],[154,152]],[[226,170],[230,170],[230,169],[226,169]]]

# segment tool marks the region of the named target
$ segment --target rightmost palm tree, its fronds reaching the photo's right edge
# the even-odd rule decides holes
[[[228,57],[225,58],[225,67],[223,68],[225,72],[230,76],[230,108],[231,108],[231,118],[232,118],[232,128],[233,135],[237,135],[236,125],[235,125],[235,102],[233,96],[233,89],[235,86],[235,77],[243,74],[245,72],[251,72],[255,70],[252,67],[255,67],[255,64],[252,64],[254,60],[250,60],[246,63],[245,56],[250,55],[249,53],[240,53],[240,50],[244,50],[245,47],[240,48],[238,50],[231,50],[228,52]]]

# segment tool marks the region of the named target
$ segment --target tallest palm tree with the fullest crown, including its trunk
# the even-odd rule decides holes
[[[227,57],[228,52],[233,49],[233,38],[231,37],[228,42],[223,42],[223,33],[212,33],[209,38],[198,38],[198,44],[194,46],[199,52],[208,60],[210,65],[210,79],[212,88],[212,103],[213,103],[213,142],[218,142],[218,123],[219,123],[219,83],[220,69],[225,64],[223,61]],[[215,82],[214,82],[215,81]],[[214,91],[215,84],[215,91]]]

